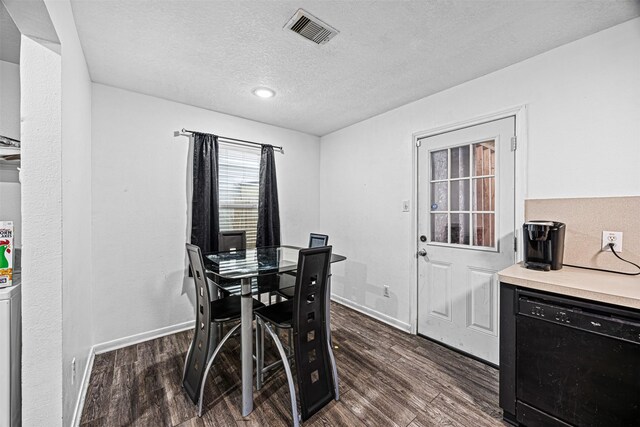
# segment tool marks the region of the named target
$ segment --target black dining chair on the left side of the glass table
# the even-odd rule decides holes
[[[200,417],[202,416],[203,393],[207,375],[222,346],[240,328],[241,324],[238,323],[232,327],[217,345],[214,342],[213,327],[240,319],[241,297],[236,295],[211,301],[200,247],[189,243],[186,246],[196,288],[196,327],[193,341],[187,351],[182,385],[189,398],[198,406],[198,416]],[[264,304],[254,298],[253,309],[261,307],[264,307]],[[213,347],[214,345],[215,347]]]

